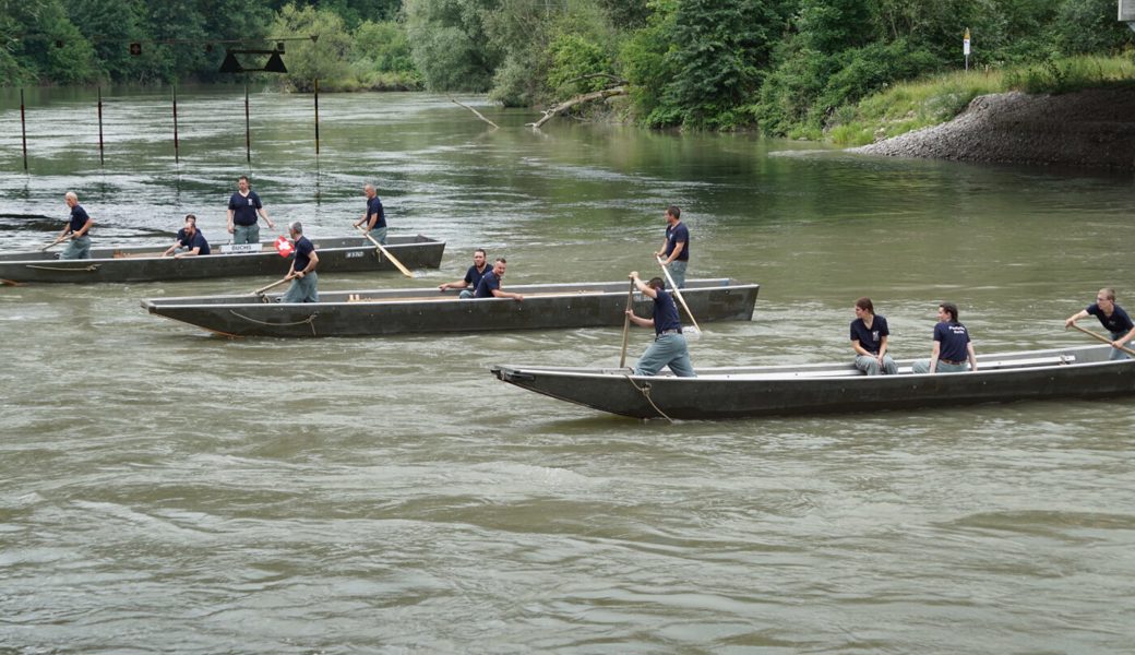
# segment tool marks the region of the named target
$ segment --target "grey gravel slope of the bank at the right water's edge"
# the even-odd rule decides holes
[[[1135,170],[1135,86],[982,95],[949,123],[849,151]]]

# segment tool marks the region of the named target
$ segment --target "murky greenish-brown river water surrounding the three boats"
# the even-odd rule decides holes
[[[658,134],[460,98],[243,89],[0,95],[0,236],[47,243],[74,190],[100,243],[215,244],[249,174],[277,224],[346,235],[378,186],[440,270],[654,274],[682,208],[691,277],[762,284],[695,366],[849,359],[869,295],[899,358],[953,301],[981,352],[1086,344],[1135,304],[1130,176],[877,159]],[[264,230],[262,229],[262,234]],[[1121,653],[1135,643],[1135,402],[669,425],[497,381],[613,366],[617,329],[246,339],[144,297],[239,278],[0,287],[0,652]],[[1085,324],[1088,325],[1088,324]],[[1098,329],[1099,326],[1093,326]],[[631,335],[632,358],[649,342]]]

